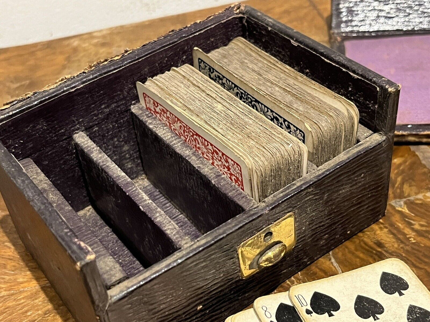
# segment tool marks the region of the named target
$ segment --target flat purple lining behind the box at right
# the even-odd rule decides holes
[[[345,41],[345,55],[402,85],[397,124],[430,124],[430,35]]]

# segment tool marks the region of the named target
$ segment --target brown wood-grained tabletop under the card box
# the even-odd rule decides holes
[[[247,4],[328,44],[330,0],[250,0]],[[0,106],[67,75],[141,46],[221,8],[114,27],[79,36],[0,49]],[[0,200],[0,321],[74,321],[26,252]],[[363,200],[365,202],[365,200]],[[430,288],[430,148],[396,146],[386,216],[278,287],[309,282],[400,258]]]

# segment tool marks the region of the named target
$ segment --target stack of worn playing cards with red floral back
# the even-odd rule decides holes
[[[137,87],[148,111],[257,202],[306,173],[300,140],[192,66]]]

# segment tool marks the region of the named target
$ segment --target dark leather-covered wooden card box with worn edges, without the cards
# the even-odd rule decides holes
[[[259,204],[135,89],[238,36],[360,112],[355,146]],[[78,321],[222,321],[384,215],[398,98],[395,83],[237,5],[1,111],[0,189]],[[240,246],[285,218],[285,254],[244,276]]]

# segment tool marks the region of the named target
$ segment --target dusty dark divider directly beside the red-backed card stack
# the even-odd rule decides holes
[[[257,204],[140,104],[132,118],[144,173],[200,232]]]

